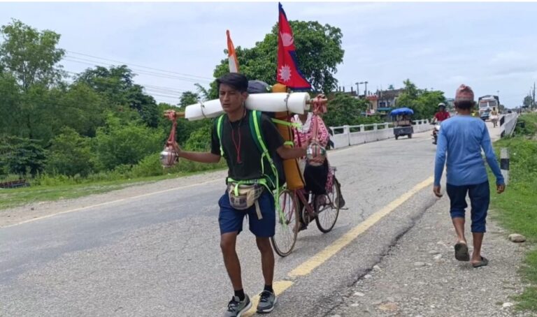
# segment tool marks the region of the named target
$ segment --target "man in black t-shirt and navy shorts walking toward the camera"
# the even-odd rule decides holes
[[[248,215],[250,231],[255,235],[261,252],[262,272],[265,286],[259,295],[257,312],[268,313],[274,309],[276,296],[272,287],[274,275],[274,253],[269,240],[275,233],[275,202],[271,191],[265,188],[266,172],[263,168],[262,153],[252,136],[252,112],[245,108],[248,98],[248,79],[239,73],[228,73],[216,80],[222,109],[226,112],[220,122],[213,126],[210,152],[184,152],[174,142],[173,148],[180,158],[201,163],[217,163],[224,156],[229,168],[227,191],[218,201],[220,214],[220,247],[224,265],[234,288],[234,296],[227,305],[225,317],[240,317],[250,307],[250,297],[243,290],[241,263],[236,253],[237,235],[243,229],[243,220]],[[260,118],[259,128],[271,156],[275,153],[282,159],[299,158],[306,155],[306,149],[287,148],[283,139],[266,115]],[[266,160],[266,158],[265,158]],[[248,193],[245,193],[248,191]],[[231,198],[231,199],[230,199]]]

